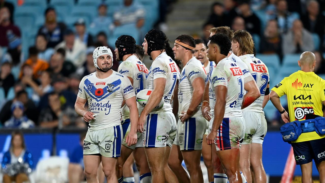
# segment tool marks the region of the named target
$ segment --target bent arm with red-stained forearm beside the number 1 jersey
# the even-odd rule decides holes
[[[255,80],[245,82],[244,89],[247,91],[247,93],[244,95],[244,100],[241,105],[241,109],[244,109],[247,106],[251,105],[256,99],[258,99],[258,97],[261,96],[261,93],[257,88]]]

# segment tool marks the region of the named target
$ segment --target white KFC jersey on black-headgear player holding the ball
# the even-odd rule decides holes
[[[166,86],[162,97],[165,103],[161,109],[150,112],[150,114],[166,111],[172,112],[173,108],[170,101],[174,93],[176,80],[179,79],[179,70],[176,63],[166,52],[162,52],[151,64],[147,78],[148,89],[154,89],[153,80],[157,78],[166,79]]]

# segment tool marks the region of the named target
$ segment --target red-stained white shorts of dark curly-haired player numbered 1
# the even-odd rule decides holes
[[[213,119],[211,119],[213,122]],[[245,136],[245,121],[243,117],[224,118],[217,129],[214,139],[217,150],[239,148]]]

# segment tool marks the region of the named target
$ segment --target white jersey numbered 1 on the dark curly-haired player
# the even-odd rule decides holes
[[[211,85],[226,86],[227,99],[224,118],[241,117],[241,104],[244,98],[244,77],[241,68],[228,58],[222,59],[212,71]],[[216,99],[218,100],[218,99]]]

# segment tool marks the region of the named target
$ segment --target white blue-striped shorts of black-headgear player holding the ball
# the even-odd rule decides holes
[[[172,147],[177,134],[177,124],[172,112],[149,114],[142,133],[143,147]]]

